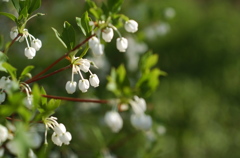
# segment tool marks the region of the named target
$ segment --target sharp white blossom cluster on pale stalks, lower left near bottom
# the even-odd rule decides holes
[[[70,141],[72,140],[72,135],[70,132],[66,130],[66,127],[62,123],[58,123],[56,117],[49,117],[47,118],[44,123],[46,125],[46,129],[52,128],[52,141],[57,146],[62,146],[62,144],[69,145]],[[47,130],[45,133],[45,139],[47,137]],[[47,141],[45,140],[45,143]]]

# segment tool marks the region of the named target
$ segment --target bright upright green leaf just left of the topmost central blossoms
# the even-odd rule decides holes
[[[88,12],[85,12],[81,18],[76,17],[76,22],[85,36],[91,35],[91,26],[89,25]]]

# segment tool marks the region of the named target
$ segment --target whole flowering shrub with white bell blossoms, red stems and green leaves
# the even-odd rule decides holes
[[[0,79],[0,145],[2,146],[0,150],[3,154],[13,154],[19,157],[36,156],[34,149],[39,148],[40,145],[33,146],[34,143],[29,140],[31,136],[28,135],[28,133],[32,133],[30,127],[33,124],[44,125],[45,134],[42,135],[44,144],[49,142],[48,133],[52,133],[51,140],[57,146],[71,144],[71,141],[74,140],[71,131],[67,131],[65,125],[58,123],[57,118],[53,116],[58,107],[64,108],[61,104],[62,100],[110,105],[112,109],[110,111],[108,109],[108,112],[105,111],[104,125],[114,133],[121,132],[121,129],[124,128],[125,119],[122,113],[131,114],[131,116],[129,115],[130,122],[136,130],[151,129],[153,120],[150,115],[146,114],[147,104],[143,97],[149,97],[154,92],[159,84],[159,76],[165,73],[159,68],[154,68],[158,56],[150,51],[142,56],[138,68],[139,75],[134,78],[134,83],[130,84],[130,78],[123,64],[118,68],[111,69],[105,86],[114,97],[108,100],[48,95],[47,93],[51,93],[51,91],[46,92],[44,87],[37,83],[39,80],[71,69],[71,78],[66,81],[65,85],[68,94],[79,93],[76,92],[77,86],[81,93],[87,93],[91,89],[90,86],[97,90],[101,86],[102,80],[100,81],[97,72],[93,73],[90,70],[91,67],[97,68],[97,65],[90,60],[89,52],[93,53],[93,58],[104,55],[105,45],[108,43],[115,43],[119,52],[126,52],[129,43],[128,39],[122,36],[121,28],[129,33],[138,31],[138,23],[135,20],[120,14],[122,0],[108,0],[107,3],[103,3],[102,7],[98,7],[91,0],[86,0],[88,9],[81,17],[76,17],[76,24],[84,37],[80,43],[76,43],[77,33],[69,22],[64,22],[62,33],[52,28],[60,44],[66,48],[66,52],[33,76],[30,72],[34,66],[31,65],[26,65],[20,75],[17,73],[19,69],[14,67],[14,63],[8,58],[8,53],[15,52],[8,52],[8,50],[10,47],[14,47],[15,42],[25,41],[27,45],[24,49],[26,60],[41,56],[41,53],[36,52],[41,51],[44,41],[35,38],[27,29],[29,20],[44,15],[43,13],[33,14],[41,7],[41,0],[12,0],[11,2],[18,13],[17,16],[0,12],[0,15],[8,17],[15,25],[9,29],[12,41],[10,44],[6,44],[5,49],[0,52],[0,70],[5,74]],[[115,42],[114,39],[116,39]],[[47,73],[62,60],[67,60],[69,64]],[[87,78],[85,73],[89,75]],[[78,82],[74,77],[75,74],[79,75]],[[59,88],[64,88],[64,86]],[[49,131],[49,129],[53,131]],[[38,132],[34,131],[36,134]],[[104,150],[102,153],[106,153],[106,151]]]

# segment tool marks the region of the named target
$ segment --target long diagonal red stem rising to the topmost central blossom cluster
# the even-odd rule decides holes
[[[38,73],[37,75],[35,75],[34,77],[32,77],[32,79],[28,80],[28,82],[32,82],[32,80],[35,80],[36,78],[38,78],[39,76],[41,76],[42,74],[44,74],[45,72],[47,72],[49,69],[51,69],[54,65],[56,65],[58,62],[60,62],[62,59],[64,59],[65,57],[67,57],[69,55],[69,53],[77,50],[78,48],[80,48],[82,45],[84,45],[90,38],[92,38],[93,36],[95,36],[95,34],[89,36],[88,38],[86,38],[84,41],[82,41],[81,43],[79,43],[76,47],[74,47],[72,50],[70,50],[69,52],[67,52],[66,54],[64,54],[63,56],[61,56],[59,59],[57,59],[55,62],[53,62],[51,65],[49,65],[47,68],[45,68],[43,71],[41,71],[40,73]]]

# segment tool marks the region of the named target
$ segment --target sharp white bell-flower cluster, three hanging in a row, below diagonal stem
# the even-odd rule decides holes
[[[96,74],[93,74],[90,71],[90,66],[91,66],[91,62],[87,59],[83,59],[83,58],[73,58],[73,65],[72,65],[72,77],[71,77],[71,81],[68,81],[66,83],[66,91],[69,94],[73,94],[76,91],[77,88],[77,82],[74,81],[74,74],[79,74],[80,75],[80,80],[78,82],[78,88],[83,92],[87,92],[87,90],[89,89],[90,85],[93,87],[98,87],[99,86],[99,78]],[[81,71],[83,72],[89,72],[90,76],[89,76],[89,80],[84,79]]]

